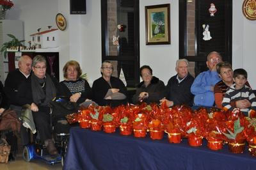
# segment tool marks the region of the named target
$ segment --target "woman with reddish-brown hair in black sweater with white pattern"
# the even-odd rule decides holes
[[[68,61],[63,67],[64,81],[60,82],[61,95],[68,97],[70,102],[85,104],[92,99],[92,89],[86,81],[81,78],[82,70],[77,61]]]

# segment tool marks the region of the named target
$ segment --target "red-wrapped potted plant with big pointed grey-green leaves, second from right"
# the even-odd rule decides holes
[[[234,127],[232,127],[233,123]],[[223,132],[223,134],[227,137],[228,150],[230,150],[232,153],[243,153],[245,146],[245,137],[242,133],[244,127],[241,127],[240,119],[238,118],[234,122],[227,121],[227,127],[230,127],[230,129],[226,128],[228,133]]]

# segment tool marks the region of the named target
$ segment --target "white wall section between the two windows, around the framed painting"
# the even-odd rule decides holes
[[[170,45],[146,45],[145,6],[170,3]],[[140,1],[140,65],[149,65],[153,74],[167,84],[175,75],[175,62],[179,59],[179,1]]]

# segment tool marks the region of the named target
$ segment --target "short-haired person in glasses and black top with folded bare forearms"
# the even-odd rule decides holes
[[[110,61],[104,61],[100,72],[102,77],[95,80],[92,85],[93,101],[99,105],[111,105],[116,107],[127,103],[127,90],[124,83],[112,76],[113,65]]]

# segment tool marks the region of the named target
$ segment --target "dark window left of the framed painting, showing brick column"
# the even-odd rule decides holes
[[[102,61],[114,66],[113,76],[122,68],[127,87],[140,81],[139,0],[102,0]],[[117,43],[118,42],[118,43]]]

